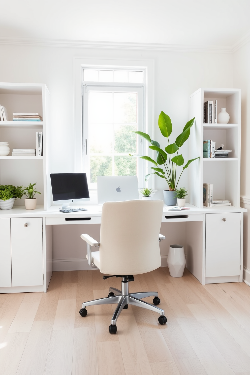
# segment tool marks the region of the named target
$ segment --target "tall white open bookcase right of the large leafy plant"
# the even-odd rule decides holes
[[[217,114],[226,108],[227,124],[204,123],[204,102],[217,99]],[[241,89],[201,88],[190,95],[190,118],[195,117],[195,131],[190,132],[190,159],[199,155],[199,163],[190,164],[190,203],[203,207],[203,183],[213,184],[213,199],[229,200],[240,207]],[[193,130],[193,129],[192,129]],[[229,157],[203,157],[203,141],[212,139],[216,149],[232,150]]]

